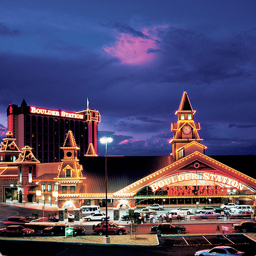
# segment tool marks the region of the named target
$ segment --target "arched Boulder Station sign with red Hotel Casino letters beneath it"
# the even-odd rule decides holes
[[[185,174],[173,175],[173,176],[167,177],[165,179],[162,179],[162,180],[160,180],[158,182],[155,182],[152,185],[150,185],[150,188],[152,189],[153,192],[155,192],[159,188],[162,188],[162,187],[165,187],[165,186],[172,186],[172,185],[177,184],[179,182],[191,181],[191,180],[213,181],[216,184],[223,184],[222,186],[218,185],[217,188],[221,188],[221,187],[226,186],[226,187],[233,187],[233,188],[237,188],[239,190],[242,190],[243,187],[244,187],[244,185],[242,183],[240,183],[239,181],[237,181],[237,180],[231,179],[231,178],[226,177],[226,176],[214,174],[214,173],[185,173]],[[200,187],[206,187],[206,186],[200,186]],[[223,194],[219,194],[220,189],[214,189],[214,187],[215,186],[211,186],[211,193],[214,193],[214,194],[211,194],[211,195],[223,195]],[[187,190],[187,191],[189,191],[187,193],[193,193],[193,186],[191,186],[191,188],[192,189]],[[184,195],[184,190],[185,189],[181,190],[181,191],[183,191],[183,194],[181,194],[180,196]],[[203,189],[201,188],[201,190],[203,190]],[[207,189],[207,190],[209,190],[209,189]],[[223,189],[221,189],[221,190],[223,190]],[[170,190],[168,190],[168,191],[170,191]],[[175,190],[173,190],[173,191],[175,191]],[[197,194],[200,195],[201,193],[202,192],[200,192],[199,194],[197,193]],[[205,194],[203,194],[203,195],[206,195],[206,192],[204,192],[204,193]],[[223,193],[226,193],[226,192],[223,192]],[[193,195],[191,195],[191,196],[193,196]]]

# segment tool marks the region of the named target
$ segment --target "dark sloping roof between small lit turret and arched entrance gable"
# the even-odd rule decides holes
[[[130,185],[173,162],[172,156],[107,157],[108,192]],[[85,193],[105,193],[105,157],[82,157]]]

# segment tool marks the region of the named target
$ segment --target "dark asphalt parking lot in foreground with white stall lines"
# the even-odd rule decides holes
[[[47,243],[36,241],[4,241],[0,239],[0,248],[3,255],[16,256],[131,256],[131,255],[168,255],[194,256],[201,249],[210,249],[217,245],[226,245],[246,252],[247,256],[255,255],[256,243],[242,234],[232,236],[170,236],[159,237],[158,246],[125,246],[113,244],[84,245],[81,243]]]

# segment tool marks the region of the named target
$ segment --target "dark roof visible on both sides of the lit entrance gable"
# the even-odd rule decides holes
[[[215,159],[256,179],[255,172],[249,168],[255,162],[256,156],[203,156]],[[86,177],[84,193],[105,193],[105,157],[82,157],[79,163],[83,166],[83,177]],[[114,193],[172,163],[172,156],[110,156],[107,158],[108,192]]]

